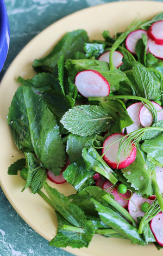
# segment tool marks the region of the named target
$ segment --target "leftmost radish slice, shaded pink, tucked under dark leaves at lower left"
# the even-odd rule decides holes
[[[64,165],[64,167],[62,168],[60,175],[56,176],[53,174],[53,172],[51,170],[47,171],[47,177],[49,178],[49,180],[51,180],[52,182],[54,182],[55,184],[62,184],[65,183],[66,180],[63,176],[63,172],[67,169],[68,165],[70,165],[70,160],[67,158],[66,159],[66,163]]]

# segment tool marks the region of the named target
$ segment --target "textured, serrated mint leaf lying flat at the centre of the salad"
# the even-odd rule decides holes
[[[68,110],[60,122],[68,132],[84,137],[106,132],[112,123],[112,117],[100,106],[80,105]]]

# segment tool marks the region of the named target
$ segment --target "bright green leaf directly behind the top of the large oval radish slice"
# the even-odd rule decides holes
[[[66,68],[71,78],[74,79],[78,72],[83,70],[96,70],[109,82],[111,90],[116,91],[119,88],[119,82],[127,79],[125,73],[121,70],[109,70],[109,63],[105,61],[96,61],[93,59],[67,59]]]

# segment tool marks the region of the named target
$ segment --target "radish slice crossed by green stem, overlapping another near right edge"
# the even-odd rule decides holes
[[[162,110],[162,107],[155,102],[152,102],[152,104],[155,106],[156,111]],[[151,112],[146,108],[147,104],[143,105],[139,112],[139,120],[143,127],[149,127],[152,124],[153,117]],[[148,106],[147,106],[148,107]],[[149,107],[148,107],[149,108]]]

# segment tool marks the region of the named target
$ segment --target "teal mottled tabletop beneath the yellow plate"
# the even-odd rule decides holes
[[[1,1],[1,0],[0,0]],[[162,0],[160,0],[162,2]],[[5,0],[10,21],[10,47],[0,81],[18,52],[44,28],[68,14],[109,0]],[[0,187],[0,256],[71,256],[48,246],[16,213]]]

